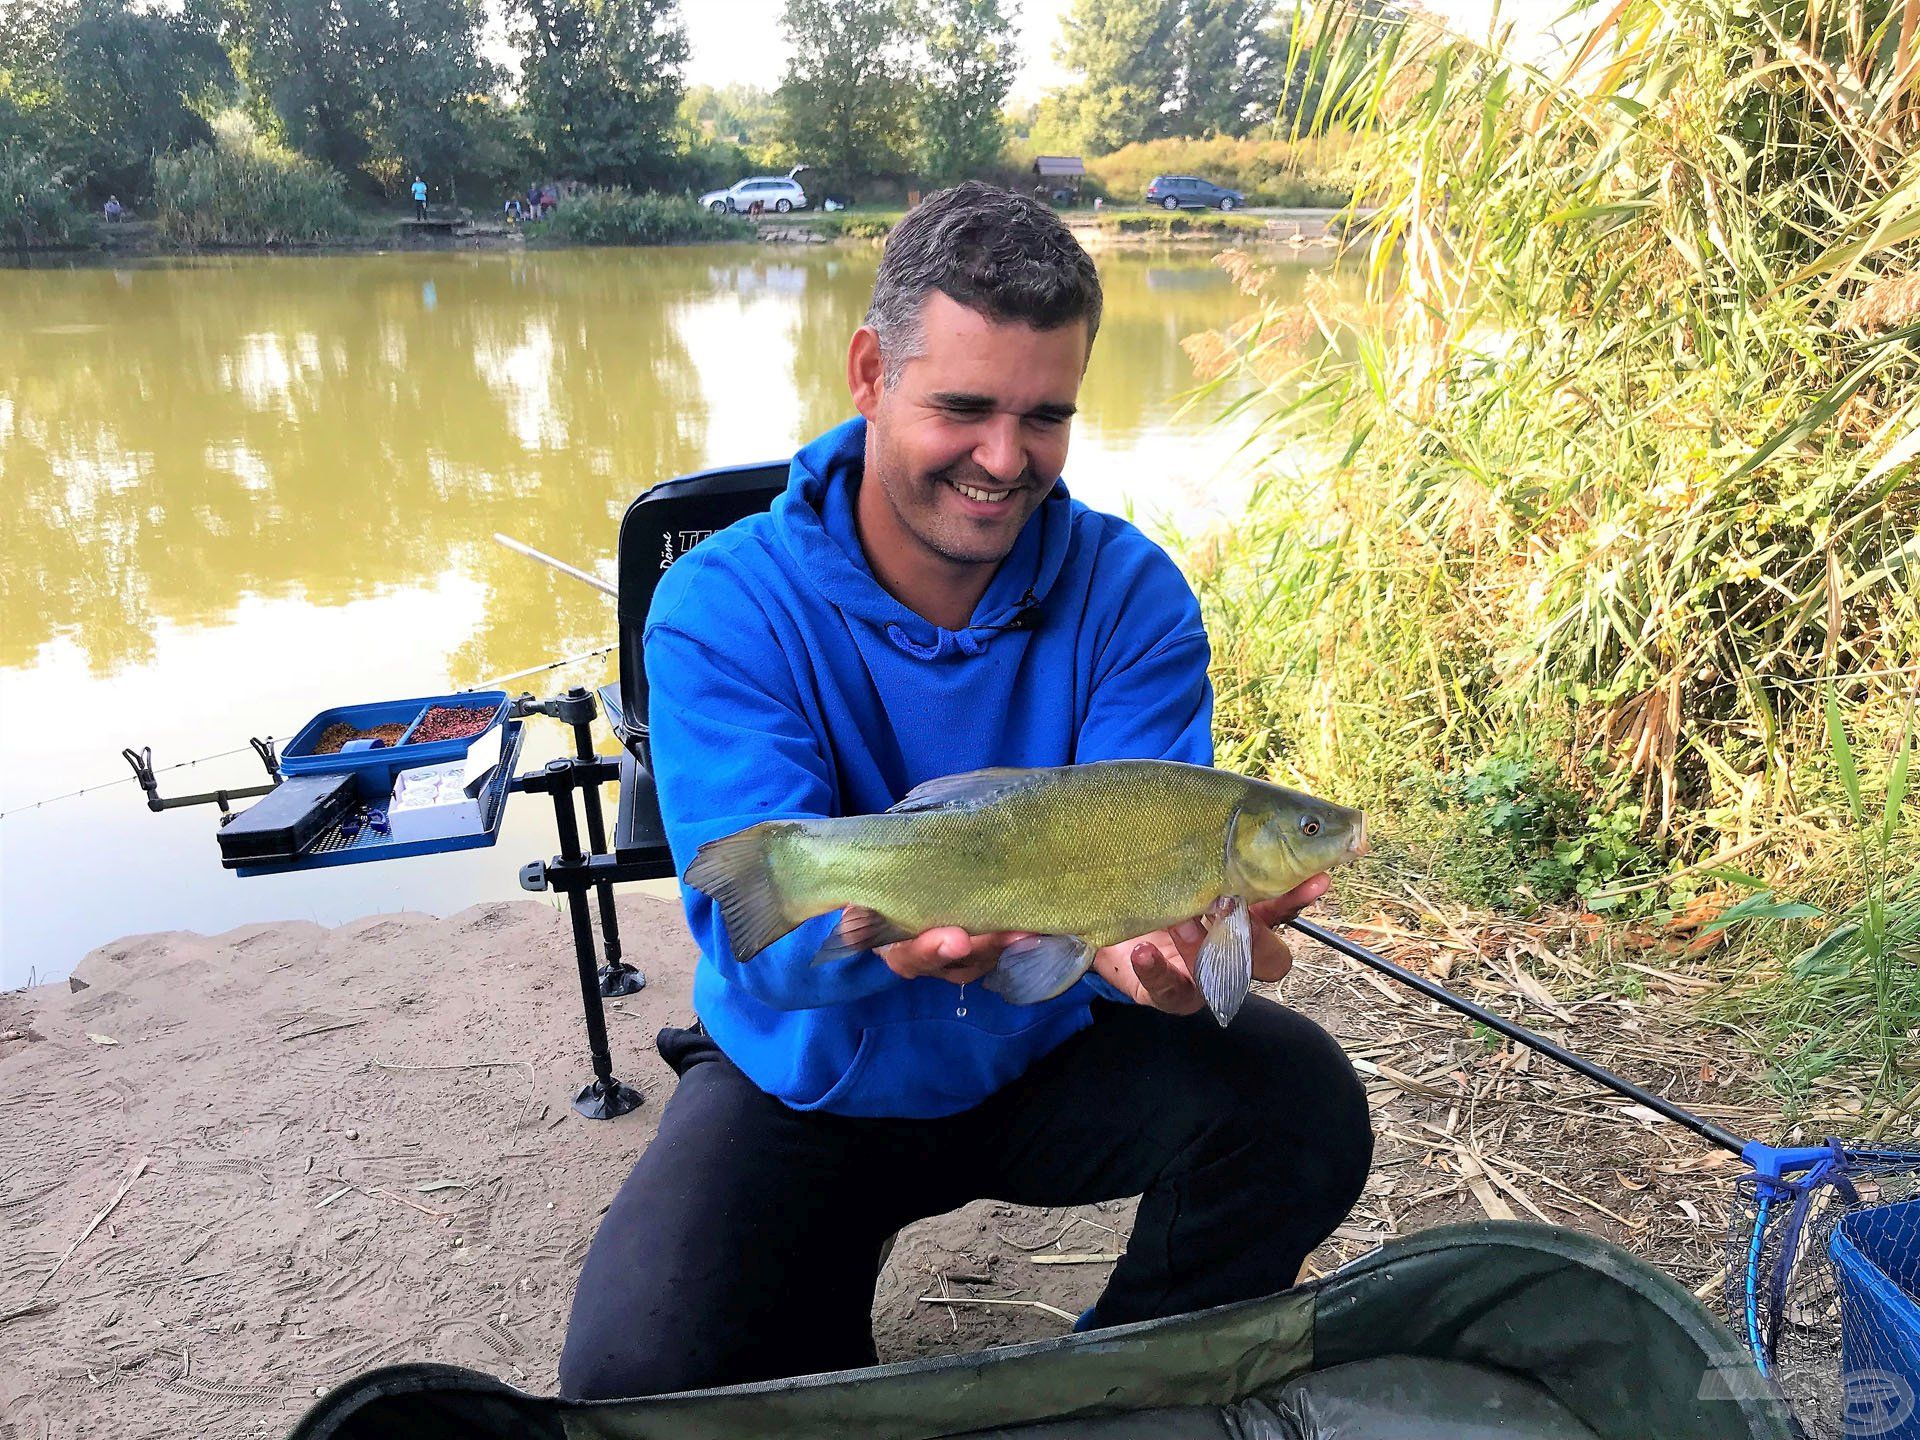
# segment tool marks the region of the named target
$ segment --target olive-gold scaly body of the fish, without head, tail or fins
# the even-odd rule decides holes
[[[860,904],[908,931],[1029,929],[1112,945],[1221,893],[1246,783],[1198,766],[1083,766],[989,801],[828,824],[774,841],[789,900]]]

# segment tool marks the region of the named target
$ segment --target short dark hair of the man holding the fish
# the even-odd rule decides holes
[[[879,336],[887,378],[920,353],[929,292],[985,315],[1054,330],[1100,330],[1100,275],[1073,232],[1039,200],[981,180],[935,190],[887,236],[866,324]]]

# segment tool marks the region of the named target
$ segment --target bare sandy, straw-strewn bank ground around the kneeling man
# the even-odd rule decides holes
[[[0,995],[0,1436],[278,1436],[317,1390],[399,1359],[551,1392],[580,1260],[672,1085],[651,1039],[691,1016],[678,908],[620,908],[653,983],[609,1008],[616,1073],[647,1094],[616,1123],[566,1106],[580,1002],[564,918],[538,900],[146,935],[88,956],[86,989]],[[1607,1231],[1690,1284],[1718,1263],[1728,1171],[1692,1137],[1332,956],[1283,991],[1348,1041],[1382,1137],[1315,1271],[1488,1210]],[[1711,1100],[1697,1037],[1626,1004],[1559,1008],[1622,1068]],[[881,1279],[881,1356],[1060,1334],[1129,1223],[977,1204],[912,1227]]]

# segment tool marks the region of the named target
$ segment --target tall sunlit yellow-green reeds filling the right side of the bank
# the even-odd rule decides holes
[[[1198,564],[1223,762],[1425,816],[1521,908],[1745,891],[1740,1014],[1885,1083],[1920,1029],[1916,27],[1619,0],[1538,65],[1319,6],[1302,123],[1357,136],[1369,301],[1309,294],[1306,363],[1279,305],[1192,346],[1260,419]]]

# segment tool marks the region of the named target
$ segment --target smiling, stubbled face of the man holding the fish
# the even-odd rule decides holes
[[[866,478],[885,493],[881,543],[952,564],[998,564],[1068,463],[1087,324],[998,323],[935,290],[922,353],[893,382],[870,330],[849,363],[868,420]],[[862,342],[866,353],[862,353]]]

